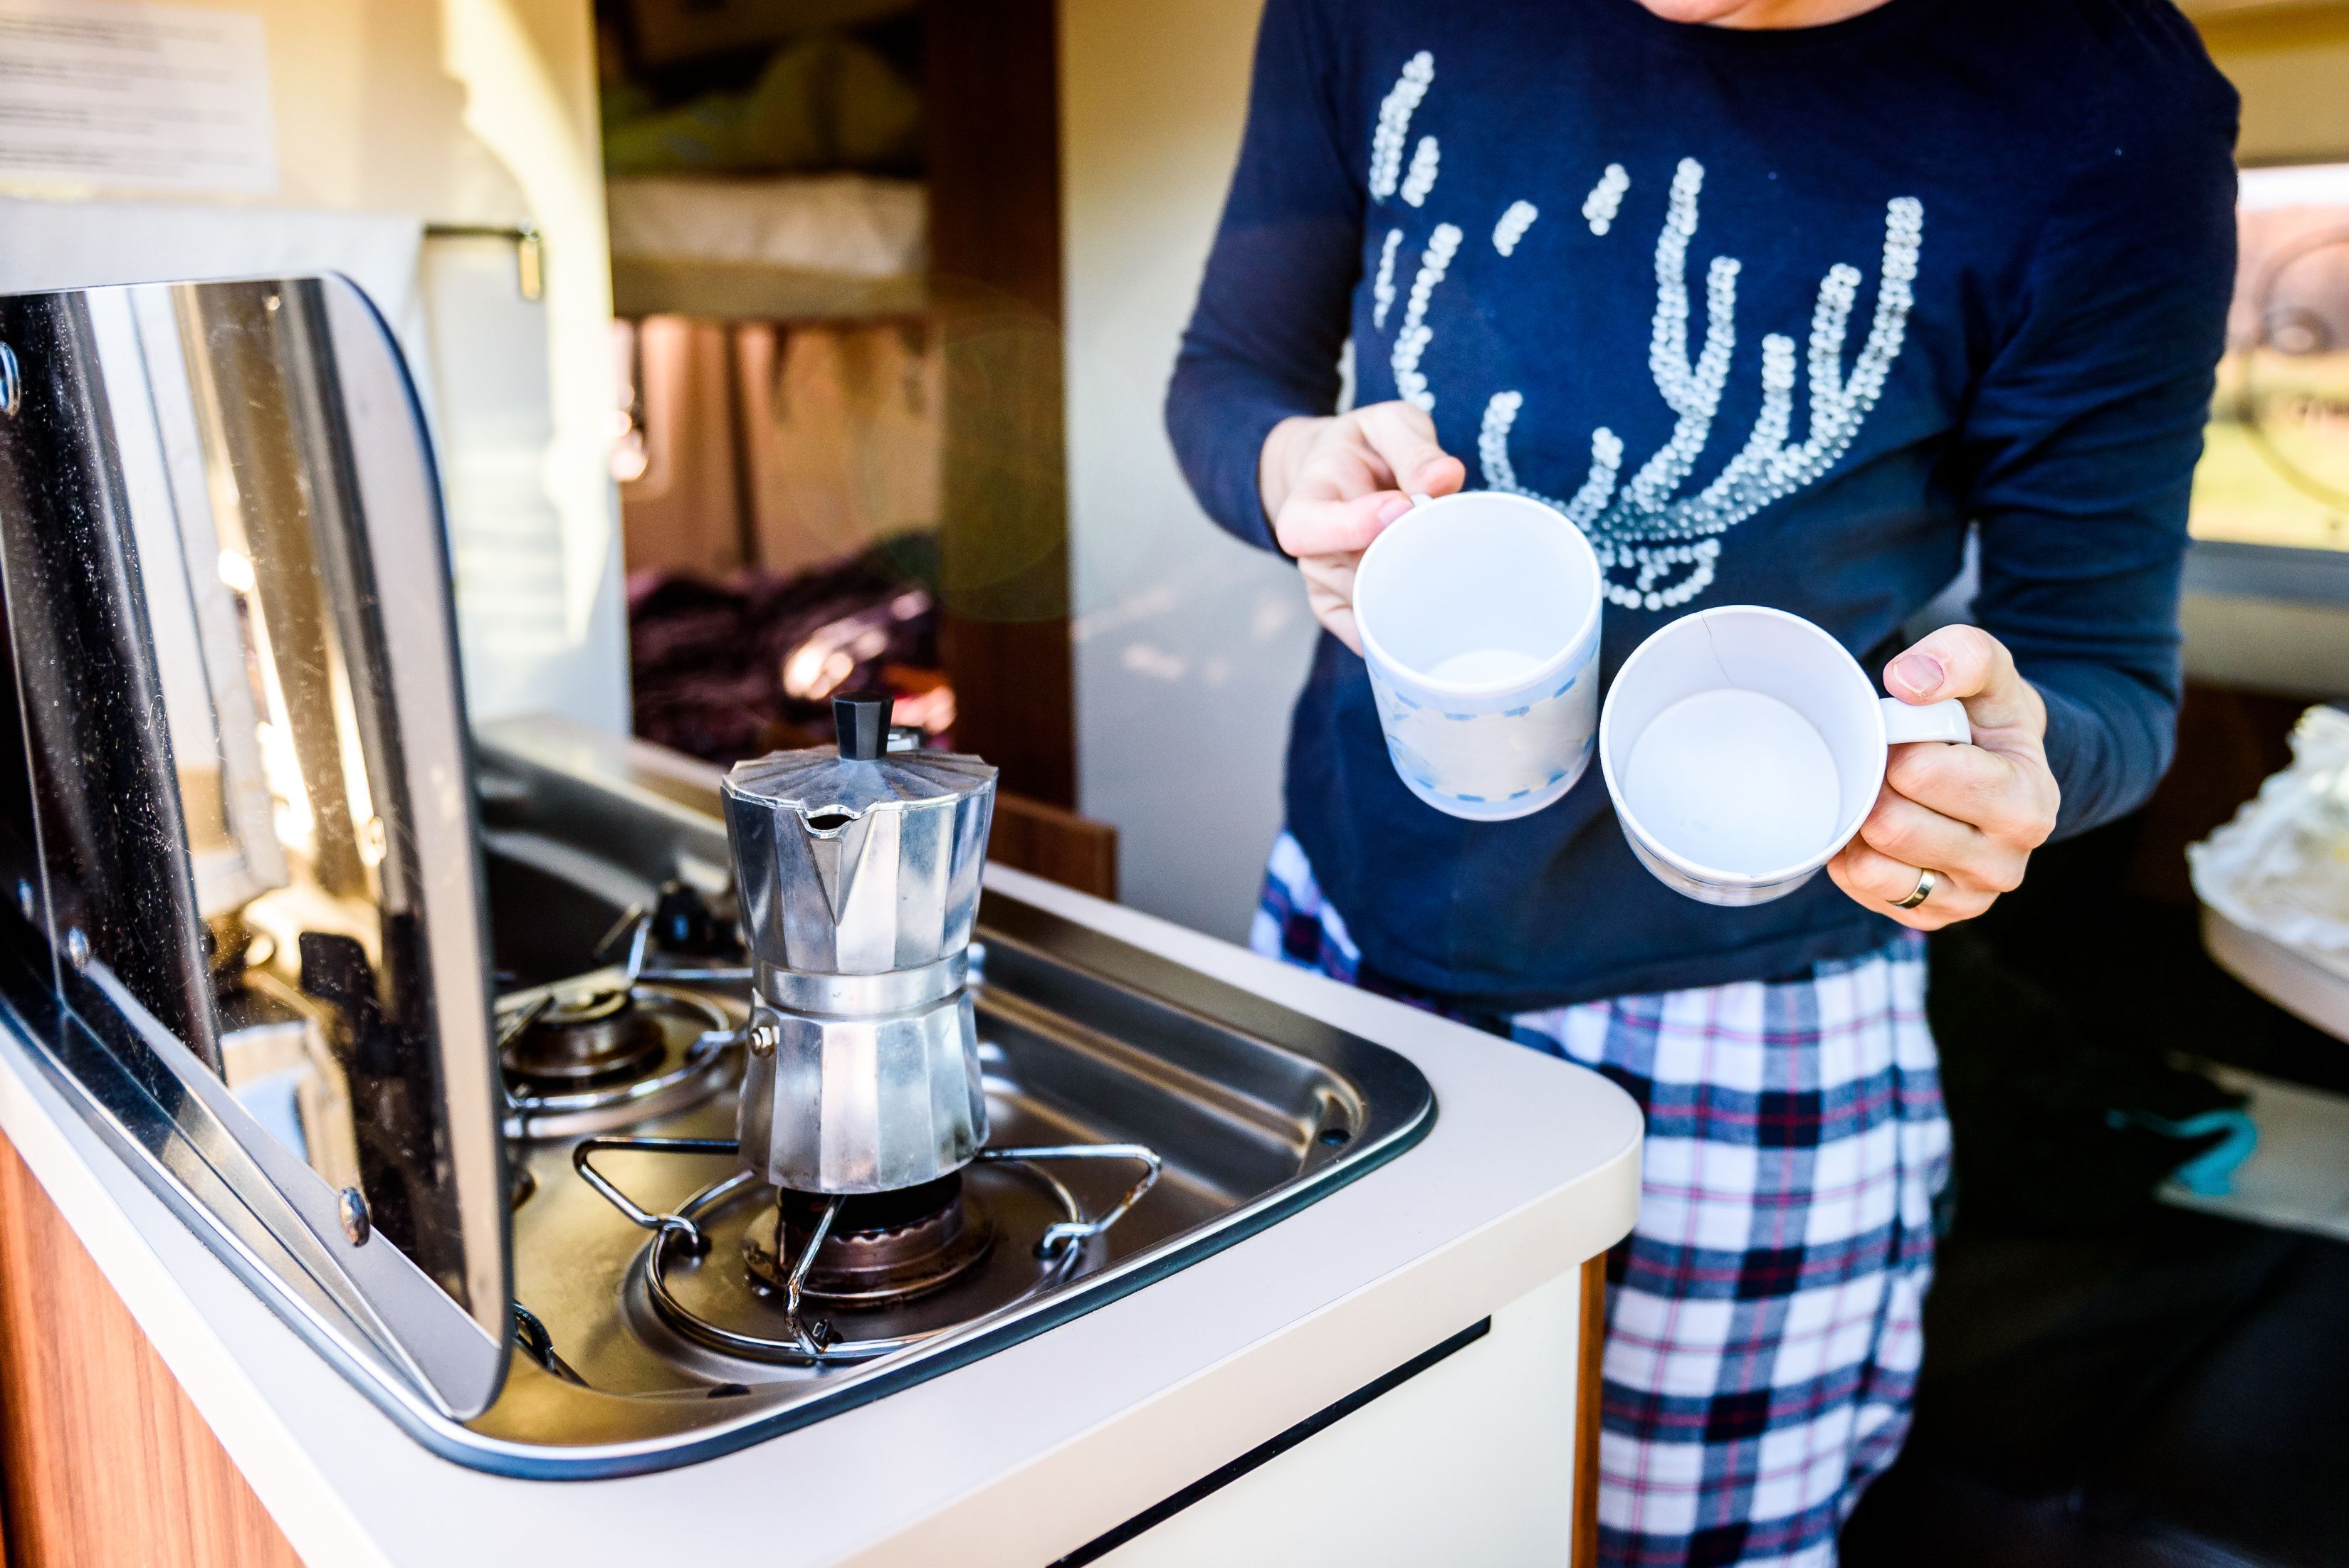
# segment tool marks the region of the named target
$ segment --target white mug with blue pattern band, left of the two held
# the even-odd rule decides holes
[[[1466,491],[1369,542],[1353,617],[1405,786],[1508,822],[1583,777],[1597,728],[1600,563],[1553,507]]]

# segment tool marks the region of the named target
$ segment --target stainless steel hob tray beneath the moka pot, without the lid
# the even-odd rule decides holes
[[[646,1061],[644,1103],[608,1087],[618,1106],[564,1101],[510,1075],[524,1094],[507,1122],[521,1336],[498,1401],[432,1434],[456,1458],[618,1474],[822,1420],[1264,1230],[1433,1120],[1402,1056],[987,894],[975,991],[991,1136],[947,1195],[961,1251],[970,1230],[987,1244],[909,1298],[853,1300],[853,1282],[822,1293],[817,1268],[794,1312],[787,1275],[813,1258],[810,1216],[782,1225],[778,1251],[778,1195],[735,1155],[740,958],[723,937],[662,948],[644,918],[662,885],[677,904],[700,878],[712,897],[684,901],[714,901],[723,932],[716,772],[540,723],[484,735],[482,768],[498,962],[519,981],[500,1007],[510,1040],[543,998],[578,1007],[630,974],[674,1040]],[[599,941],[622,958],[559,974]],[[921,1225],[937,1216],[862,1239],[886,1249]]]

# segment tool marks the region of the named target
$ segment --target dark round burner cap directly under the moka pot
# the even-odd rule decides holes
[[[815,1235],[827,1204],[832,1197],[824,1192],[775,1190],[775,1209],[754,1221],[742,1237],[742,1256],[756,1284],[787,1289],[792,1263]],[[864,1192],[841,1204],[808,1268],[803,1296],[839,1305],[911,1300],[977,1265],[994,1239],[996,1228],[987,1211],[963,1199],[961,1171],[918,1188]]]

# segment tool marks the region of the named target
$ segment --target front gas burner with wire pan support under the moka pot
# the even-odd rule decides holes
[[[855,1197],[780,1190],[738,1169],[677,1211],[651,1214],[594,1169],[604,1150],[740,1160],[740,1145],[583,1138],[571,1164],[653,1232],[625,1286],[644,1326],[787,1366],[869,1361],[1029,1305],[1078,1272],[1088,1244],[1125,1218],[1160,1169],[1139,1143],[987,1148],[947,1178]],[[1142,1176],[1088,1216],[1050,1169],[1064,1160],[1128,1160]]]

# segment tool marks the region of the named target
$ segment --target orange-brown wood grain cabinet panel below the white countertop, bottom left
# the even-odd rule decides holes
[[[0,1138],[7,1568],[298,1568],[129,1307]]]

